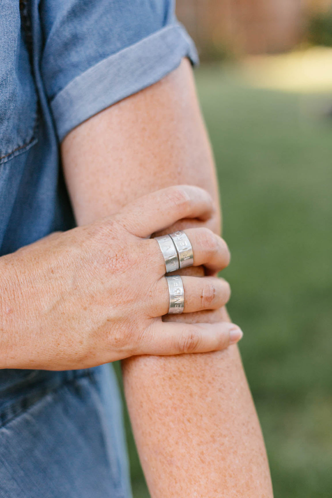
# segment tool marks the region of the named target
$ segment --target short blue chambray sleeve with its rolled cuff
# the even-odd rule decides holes
[[[41,0],[39,12],[40,70],[60,141],[183,57],[198,63],[172,0]]]

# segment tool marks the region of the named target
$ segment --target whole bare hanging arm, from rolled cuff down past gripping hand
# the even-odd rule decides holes
[[[167,185],[199,185],[219,202],[186,59],[158,83],[73,129],[62,142],[62,158],[79,224]],[[183,220],[166,232],[192,224]],[[218,215],[211,227],[219,232]],[[188,268],[186,273],[203,271]],[[228,320],[225,309],[203,314],[204,321]],[[202,313],[167,317],[203,318]],[[178,357],[131,357],[122,365],[152,497],[272,497],[263,438],[237,347]]]

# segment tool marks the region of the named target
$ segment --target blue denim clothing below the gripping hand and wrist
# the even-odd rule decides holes
[[[109,365],[0,371],[0,497],[131,497]]]

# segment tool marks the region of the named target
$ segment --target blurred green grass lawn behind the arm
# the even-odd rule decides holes
[[[332,118],[314,95],[196,80],[232,260],[228,310],[262,425],[275,498],[332,496]],[[332,108],[332,97],[331,97]],[[147,498],[126,415],[134,498]]]

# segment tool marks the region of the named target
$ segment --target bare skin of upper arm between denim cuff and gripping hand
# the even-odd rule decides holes
[[[219,204],[211,148],[186,59],[161,81],[73,129],[62,142],[62,157],[79,223],[172,184],[199,185]],[[219,225],[215,219],[212,228],[219,231]]]

